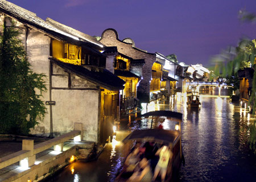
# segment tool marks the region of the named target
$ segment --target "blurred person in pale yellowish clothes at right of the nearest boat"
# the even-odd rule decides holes
[[[159,161],[155,167],[153,181],[156,179],[156,177],[158,177],[159,173],[161,180],[164,181],[166,178],[168,163],[171,161],[173,155],[170,146],[163,146],[159,148],[155,155],[159,155]]]

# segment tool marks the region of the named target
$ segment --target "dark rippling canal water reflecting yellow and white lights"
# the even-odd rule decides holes
[[[186,98],[178,95],[147,107],[147,111],[183,113],[185,166],[181,166],[179,181],[256,181],[256,157],[247,147],[248,134],[244,130],[253,116],[230,103],[228,97],[201,95],[200,102],[200,109],[189,109]],[[98,160],[72,163],[48,181],[114,181],[123,160],[118,140],[129,130],[150,127],[149,121],[134,121],[135,117],[133,114],[121,120],[119,138],[106,144]],[[163,123],[164,129],[169,127],[168,122]]]

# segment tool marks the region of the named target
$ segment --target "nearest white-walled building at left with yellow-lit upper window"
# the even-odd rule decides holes
[[[34,72],[46,75],[42,100],[47,113],[31,134],[54,137],[82,123],[84,140],[104,142],[119,115],[119,90],[125,82],[105,69],[105,46],[89,35],[7,1],[0,2],[0,23],[20,30]]]

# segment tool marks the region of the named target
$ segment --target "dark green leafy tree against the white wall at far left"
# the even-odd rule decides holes
[[[0,133],[27,135],[42,121],[46,107],[43,74],[30,69],[19,31],[3,24],[0,36]]]

